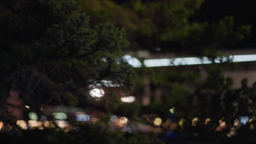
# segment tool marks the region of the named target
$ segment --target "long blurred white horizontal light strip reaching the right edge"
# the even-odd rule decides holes
[[[222,59],[222,60],[221,60]],[[256,61],[256,55],[234,55],[217,59],[214,59],[215,63],[226,62],[230,60],[231,62],[250,62]],[[194,65],[194,64],[210,64],[207,57],[184,57],[184,58],[164,58],[164,59],[146,59],[144,64],[146,67],[166,67],[173,65]]]

